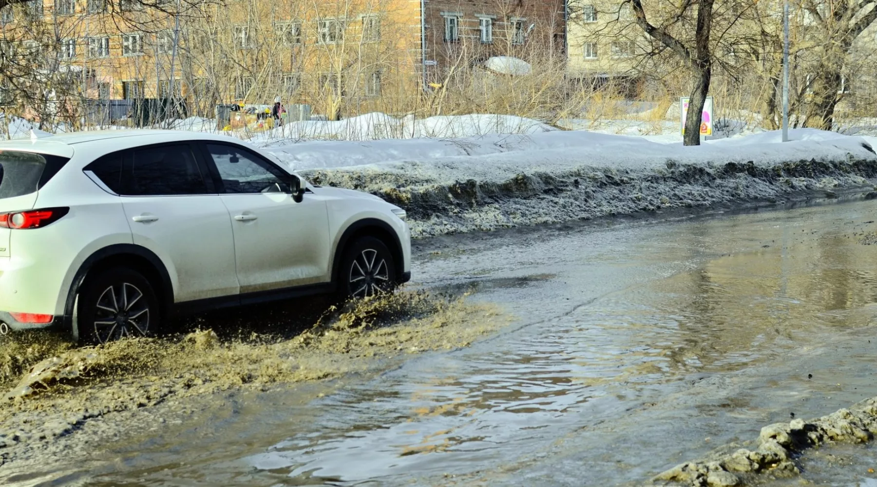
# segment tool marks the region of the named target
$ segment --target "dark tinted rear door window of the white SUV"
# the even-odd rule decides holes
[[[125,193],[136,196],[207,194],[201,168],[188,144],[132,149]]]

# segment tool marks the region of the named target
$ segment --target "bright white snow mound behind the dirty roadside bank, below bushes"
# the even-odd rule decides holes
[[[460,138],[488,134],[528,134],[553,131],[538,120],[511,115],[414,116],[395,118],[384,113],[353,116],[337,122],[289,122],[253,134],[250,141],[276,145],[289,140],[380,140],[384,138]]]

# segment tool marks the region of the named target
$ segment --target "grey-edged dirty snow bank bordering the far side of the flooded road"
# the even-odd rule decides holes
[[[271,151],[315,184],[367,191],[405,208],[418,237],[771,201],[807,190],[860,187],[877,177],[877,156],[864,138],[812,130],[792,131],[787,144],[774,138],[767,132],[683,147],[547,131],[375,142],[365,151],[358,143]],[[381,158],[390,162],[377,162]]]

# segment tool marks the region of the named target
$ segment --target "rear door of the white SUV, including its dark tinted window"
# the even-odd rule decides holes
[[[177,302],[239,292],[231,217],[199,154],[187,142],[148,145],[86,167],[113,181],[107,186],[122,196],[133,243],[168,266]]]

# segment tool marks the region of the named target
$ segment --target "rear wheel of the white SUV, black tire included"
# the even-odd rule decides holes
[[[91,344],[154,335],[161,322],[152,284],[126,267],[114,267],[86,279],[75,308],[73,335]]]

